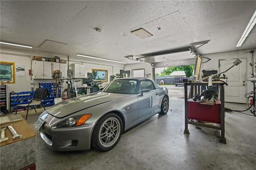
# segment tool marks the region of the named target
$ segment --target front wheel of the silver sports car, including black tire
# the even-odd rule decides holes
[[[109,113],[104,115],[93,130],[93,148],[101,152],[113,149],[120,140],[122,132],[122,120],[117,114]]]

